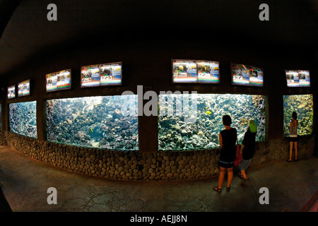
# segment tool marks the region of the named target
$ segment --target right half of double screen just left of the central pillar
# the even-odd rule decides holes
[[[100,85],[122,84],[122,63],[100,65]]]

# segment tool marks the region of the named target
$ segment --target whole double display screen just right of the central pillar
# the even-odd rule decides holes
[[[172,83],[219,83],[217,61],[172,59]]]

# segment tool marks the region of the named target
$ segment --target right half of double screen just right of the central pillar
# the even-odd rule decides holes
[[[220,83],[219,63],[216,61],[196,61],[198,83]]]

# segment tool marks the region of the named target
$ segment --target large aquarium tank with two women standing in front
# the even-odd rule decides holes
[[[257,141],[265,139],[265,97],[234,94],[163,94],[158,102],[159,150],[193,150],[219,147],[225,129],[222,117],[232,118],[242,143],[249,119],[257,124]]]

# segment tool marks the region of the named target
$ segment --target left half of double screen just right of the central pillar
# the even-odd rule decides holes
[[[172,60],[172,83],[197,83],[196,61]]]

